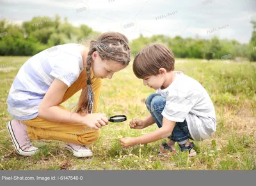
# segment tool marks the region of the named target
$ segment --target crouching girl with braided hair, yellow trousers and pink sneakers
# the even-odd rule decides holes
[[[130,61],[128,39],[106,32],[90,48],[74,43],[44,50],[24,63],[12,83],[7,99],[13,120],[7,124],[20,155],[38,152],[31,140],[65,141],[76,157],[92,156],[86,145],[99,138],[99,128],[108,125],[97,113],[103,78],[124,69]],[[60,106],[82,90],[74,113]]]

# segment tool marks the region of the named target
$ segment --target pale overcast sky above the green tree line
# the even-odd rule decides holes
[[[122,32],[129,39],[153,34],[236,39],[248,43],[256,0],[0,0],[0,19],[21,23],[59,14],[73,25]]]

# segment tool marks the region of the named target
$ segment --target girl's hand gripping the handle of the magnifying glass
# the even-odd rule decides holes
[[[104,113],[90,113],[83,117],[82,123],[92,129],[98,130],[102,126],[108,125],[108,118]]]

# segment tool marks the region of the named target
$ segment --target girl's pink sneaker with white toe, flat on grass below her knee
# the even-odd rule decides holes
[[[65,148],[73,152],[76,157],[91,157],[92,151],[86,145],[78,145],[74,143],[66,143]]]

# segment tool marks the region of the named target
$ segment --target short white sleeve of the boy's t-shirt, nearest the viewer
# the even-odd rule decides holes
[[[198,97],[200,97],[199,93],[167,96],[166,105],[162,112],[163,117],[173,122],[184,122],[191,108],[195,106],[195,100]]]

